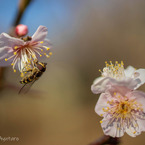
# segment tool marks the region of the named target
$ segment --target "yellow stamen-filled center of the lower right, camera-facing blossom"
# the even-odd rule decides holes
[[[104,113],[108,113],[112,116],[112,119],[130,119],[137,112],[142,112],[142,104],[138,103],[134,99],[129,99],[126,96],[116,95],[114,93],[114,99],[107,102],[110,107],[103,108]]]

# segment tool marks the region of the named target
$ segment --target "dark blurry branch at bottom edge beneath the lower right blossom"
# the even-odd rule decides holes
[[[115,137],[110,137],[110,136],[102,136],[101,138],[97,139],[97,141],[89,144],[89,145],[118,145],[120,143],[120,139]]]

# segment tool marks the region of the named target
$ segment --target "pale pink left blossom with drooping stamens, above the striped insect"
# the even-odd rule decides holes
[[[34,66],[40,57],[49,58],[52,52],[49,40],[45,39],[47,33],[45,26],[39,26],[32,37],[20,39],[0,34],[0,66],[12,65],[14,72],[17,68],[23,72],[25,66]]]

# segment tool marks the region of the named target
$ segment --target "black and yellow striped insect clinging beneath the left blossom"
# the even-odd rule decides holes
[[[26,75],[22,78],[20,81],[21,84],[24,84],[23,87],[20,89],[19,94],[21,93],[22,89],[27,85],[30,84],[30,87],[33,85],[33,83],[38,80],[42,74],[46,71],[46,65],[47,63],[43,62],[36,62],[34,67],[29,68],[26,71]]]

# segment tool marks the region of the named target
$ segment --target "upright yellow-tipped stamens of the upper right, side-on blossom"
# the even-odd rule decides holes
[[[111,77],[118,80],[125,77],[123,61],[121,63],[116,61],[115,64],[112,64],[112,61],[110,61],[110,64],[108,62],[105,62],[105,64],[106,67],[103,68],[103,72],[99,70],[103,77]]]

